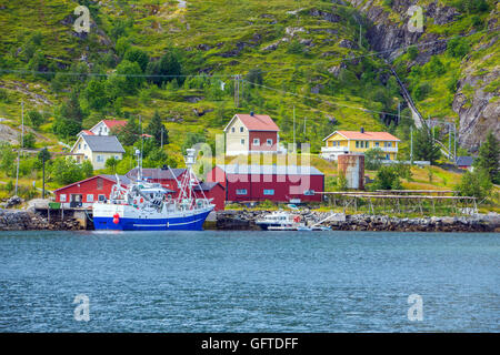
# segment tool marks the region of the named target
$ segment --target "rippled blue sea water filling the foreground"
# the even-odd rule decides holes
[[[500,331],[498,233],[2,232],[0,263],[2,332]]]

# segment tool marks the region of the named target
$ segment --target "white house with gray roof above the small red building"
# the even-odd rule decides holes
[[[104,169],[110,158],[122,160],[123,153],[124,149],[114,135],[81,134],[71,149],[78,163],[90,161],[93,170]]]

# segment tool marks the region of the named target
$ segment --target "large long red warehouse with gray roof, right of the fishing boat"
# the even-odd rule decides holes
[[[226,187],[226,201],[321,202],[324,174],[313,166],[217,165],[207,181]]]

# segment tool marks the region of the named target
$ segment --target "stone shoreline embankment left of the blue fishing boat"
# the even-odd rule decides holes
[[[53,220],[42,217],[29,211],[0,210],[0,231],[78,231],[80,223],[70,217]]]

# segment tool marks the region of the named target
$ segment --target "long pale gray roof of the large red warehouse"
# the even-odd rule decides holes
[[[264,174],[264,175],[324,175],[309,165],[217,165],[227,174]]]

